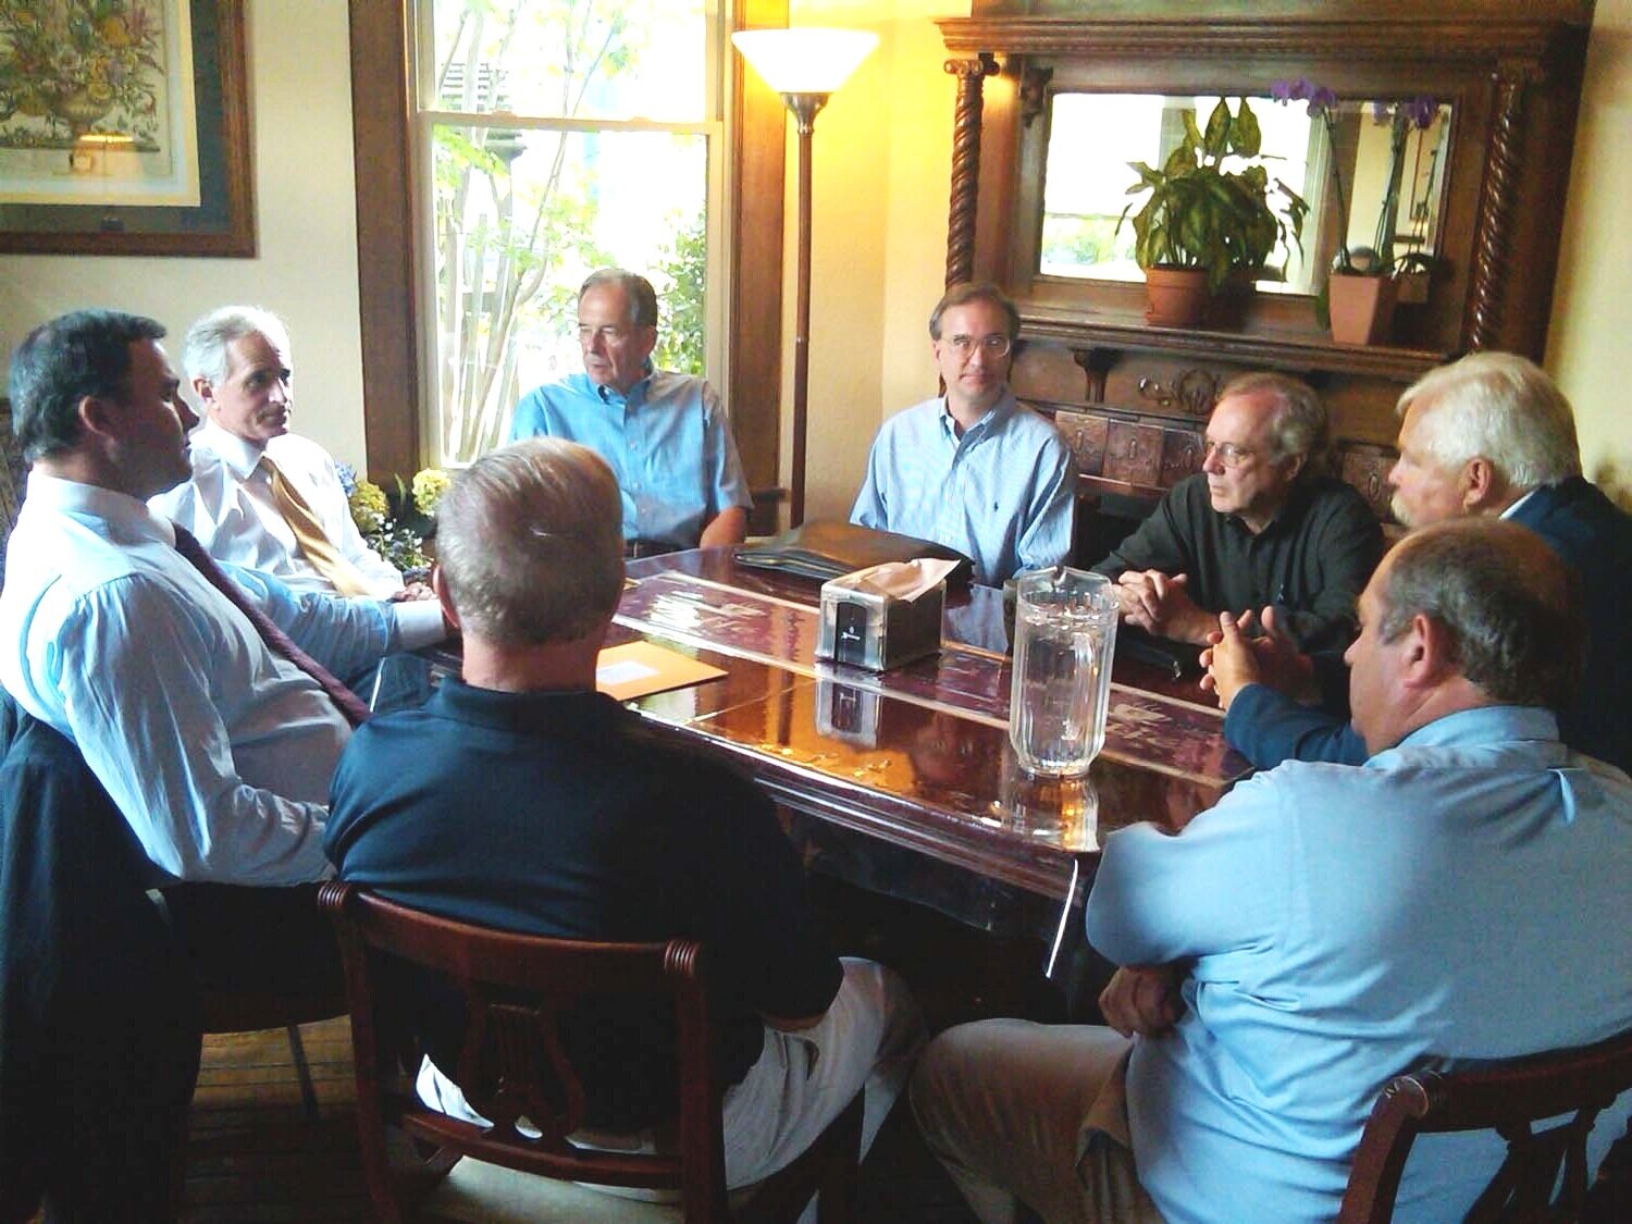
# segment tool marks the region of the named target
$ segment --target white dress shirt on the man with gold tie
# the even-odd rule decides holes
[[[297,591],[333,592],[300,550],[295,534],[273,501],[273,478],[261,465],[268,455],[284,480],[307,499],[330,543],[370,583],[379,599],[401,591],[403,576],[362,540],[351,521],[346,490],[328,452],[310,439],[282,434],[264,447],[206,421],[191,436],[193,478],[160,493],[153,512],[193,532],[217,561],[281,578]]]

